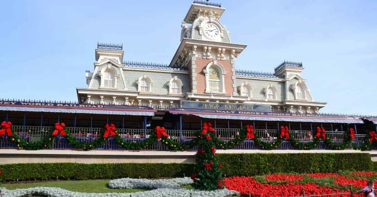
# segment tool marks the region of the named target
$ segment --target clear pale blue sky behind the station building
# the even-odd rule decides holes
[[[214,1],[212,1],[214,2]],[[218,0],[238,69],[302,61],[322,112],[377,115],[377,1]],[[77,101],[97,41],[124,60],[170,63],[191,0],[17,0],[0,8],[0,97]]]

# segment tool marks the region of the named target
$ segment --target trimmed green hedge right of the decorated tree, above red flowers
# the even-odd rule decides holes
[[[219,154],[227,176],[373,170],[369,153]],[[377,168],[375,168],[377,169]]]

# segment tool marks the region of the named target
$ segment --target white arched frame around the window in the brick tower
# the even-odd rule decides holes
[[[210,79],[209,79],[209,71],[211,68],[215,68],[216,70],[219,71],[219,85],[220,85],[220,91],[219,92],[213,92],[211,91],[211,88],[209,86],[210,84]],[[212,62],[208,63],[206,67],[203,69],[204,75],[205,75],[205,93],[222,93],[225,94],[225,72],[224,67],[217,62],[217,60],[213,60]]]

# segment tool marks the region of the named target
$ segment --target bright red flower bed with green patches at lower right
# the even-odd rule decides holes
[[[332,196],[351,196],[366,186],[368,180],[375,180],[375,172],[354,172],[346,174],[313,173],[313,174],[268,174],[265,176],[244,177],[233,176],[224,178],[227,189],[240,192],[242,195],[253,196],[300,196],[335,194]],[[377,182],[375,182],[377,185]],[[362,196],[363,194],[354,194]]]

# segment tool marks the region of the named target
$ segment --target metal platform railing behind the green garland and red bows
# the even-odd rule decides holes
[[[91,142],[100,136],[103,128],[80,128],[80,127],[66,127],[67,130],[77,138],[79,141]],[[51,131],[54,130],[53,127],[39,127],[39,126],[14,126],[15,132],[21,139],[26,142],[36,142],[44,137],[48,136]],[[151,133],[154,133],[153,129],[117,129],[120,136],[125,141],[141,141],[149,137]],[[239,129],[236,128],[216,128],[216,136],[224,141],[234,139],[239,134]],[[262,140],[271,142],[276,140],[276,136],[279,136],[279,130],[265,130],[265,129],[255,129],[254,131],[258,134]],[[316,131],[303,131],[303,130],[291,130],[291,135],[299,140],[300,142],[311,142],[315,136]],[[185,143],[192,140],[195,137],[195,130],[166,130],[169,134],[170,139],[175,142]],[[341,144],[343,142],[343,137],[346,133],[343,131],[326,131],[326,136],[335,143]],[[356,134],[355,140],[352,140],[352,144],[361,145],[366,137],[365,134]],[[11,141],[11,137],[4,136],[0,141],[0,148],[17,148],[17,145]],[[196,150],[197,147],[193,147],[191,150]],[[66,141],[63,136],[58,136],[51,147],[48,149],[73,149],[73,147]],[[106,139],[106,143],[100,147],[96,147],[98,150],[123,150],[115,144],[112,137]],[[234,149],[259,149],[253,143],[253,140],[245,140],[241,145],[238,145]],[[290,142],[284,140],[284,142],[277,149],[295,149]],[[315,149],[326,149],[324,142],[321,142]],[[347,149],[352,149],[351,143],[348,145]],[[169,149],[157,141],[152,145],[149,145],[145,150],[154,151],[168,151]],[[371,150],[377,150],[377,147],[372,146]]]

